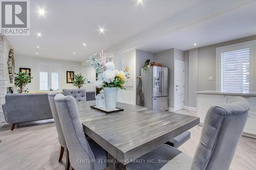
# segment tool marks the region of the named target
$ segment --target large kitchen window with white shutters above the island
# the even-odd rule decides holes
[[[219,90],[248,93],[251,82],[251,44],[240,43],[217,48]]]

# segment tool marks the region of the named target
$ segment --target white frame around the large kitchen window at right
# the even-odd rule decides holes
[[[250,81],[249,81],[249,91],[252,91],[252,74],[253,74],[253,44],[255,41],[247,41],[232,45],[226,45],[216,48],[216,90],[221,91],[221,53],[241,50],[249,48],[250,50]]]

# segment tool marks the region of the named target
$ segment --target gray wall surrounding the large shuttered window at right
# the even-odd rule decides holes
[[[185,81],[185,106],[197,107],[195,91],[216,90],[216,48],[246,41],[256,40],[256,35],[198,47],[184,52],[185,68],[188,68],[188,81]],[[254,53],[255,53],[255,49]],[[187,54],[188,53],[188,54]],[[256,56],[253,56],[256,68]],[[214,77],[210,81],[209,77]],[[186,69],[185,69],[186,79]],[[256,69],[253,69],[253,90],[256,90]],[[186,86],[188,91],[186,92]]]

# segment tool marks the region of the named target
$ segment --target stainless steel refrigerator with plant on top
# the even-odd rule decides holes
[[[152,66],[145,72],[141,68],[144,106],[156,110],[168,110],[168,68]]]

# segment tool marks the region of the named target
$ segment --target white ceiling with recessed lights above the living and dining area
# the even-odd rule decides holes
[[[83,61],[100,49],[135,36],[202,1],[143,0],[139,5],[136,0],[33,0],[30,1],[30,36],[7,38],[16,54]],[[46,16],[38,16],[39,8],[47,11]],[[99,34],[99,27],[105,28],[104,35]],[[37,37],[37,32],[42,36]],[[83,42],[86,47],[82,46]],[[36,45],[40,47],[37,49]]]

